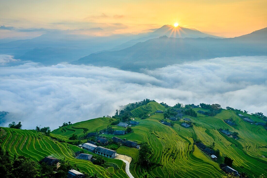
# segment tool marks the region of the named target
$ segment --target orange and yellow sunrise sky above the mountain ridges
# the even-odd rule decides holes
[[[140,33],[165,24],[235,37],[267,27],[266,0],[1,0],[0,38],[100,27]]]

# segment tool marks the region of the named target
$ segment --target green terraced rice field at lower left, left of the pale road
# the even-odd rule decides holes
[[[34,161],[40,161],[46,156],[53,156],[56,158],[66,158],[71,164],[77,164],[77,167],[85,172],[98,173],[100,177],[127,177],[124,171],[125,163],[121,160],[108,159],[108,162],[116,163],[120,169],[109,172],[103,167],[92,164],[90,161],[78,160],[74,158],[74,152],[80,150],[77,146],[66,143],[59,143],[37,133],[34,130],[19,130],[2,128],[4,132],[4,141],[1,147],[8,151],[10,155],[24,155]]]

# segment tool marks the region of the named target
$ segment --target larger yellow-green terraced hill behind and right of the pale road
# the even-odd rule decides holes
[[[159,103],[150,102],[131,111],[133,116],[141,112],[155,112],[156,110],[164,110]],[[207,109],[194,108],[193,110]],[[203,144],[211,145],[215,142],[215,148],[219,149],[221,156],[228,156],[233,159],[232,168],[238,172],[246,172],[249,176],[256,177],[266,172],[267,168],[267,132],[263,126],[250,124],[241,119],[237,114],[240,111],[222,110],[217,115],[211,117],[203,114],[197,114],[197,117],[188,115],[183,118],[190,118],[195,124],[192,127],[184,128],[180,126],[183,120],[175,121],[173,127],[163,125],[159,120],[163,119],[163,114],[152,114],[149,118],[140,120],[139,125],[132,127],[133,132],[119,138],[141,143],[146,141],[152,147],[150,160],[152,165],[145,169],[138,164],[138,153],[135,148],[127,148],[120,146],[117,153],[131,156],[134,160],[131,163],[131,173],[134,177],[141,177],[142,173],[148,172],[152,177],[176,178],[176,177],[221,177],[224,172],[219,168],[219,163],[222,160],[214,162],[210,157],[202,152],[195,144],[194,140],[200,139]],[[256,122],[262,122],[261,119],[242,113],[244,116],[249,116]],[[236,123],[235,126],[226,124],[223,120],[232,118]],[[168,120],[168,119],[167,119]],[[170,120],[168,120],[170,122]],[[97,123],[97,124],[96,124]],[[88,128],[90,131],[96,130],[101,126],[108,125],[107,118],[97,118],[84,122],[77,123],[79,127]],[[60,135],[71,135],[72,133],[80,133],[83,129],[76,128],[76,125],[66,126],[54,130],[52,133]],[[123,127],[112,126],[115,130],[123,130]],[[237,131],[239,139],[235,140],[232,137],[227,137],[219,131],[220,128],[229,129],[229,131]],[[72,130],[70,130],[72,129]],[[102,136],[111,138],[113,135],[102,134]],[[265,157],[262,157],[265,156]]]

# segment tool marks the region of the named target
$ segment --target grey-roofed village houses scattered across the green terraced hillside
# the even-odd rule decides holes
[[[192,105],[192,107],[197,108],[199,106]],[[177,120],[182,120],[182,123],[180,125],[185,127],[185,128],[189,128],[190,126],[192,126],[194,124],[190,118],[182,118],[184,116],[182,113],[182,109],[177,109],[176,112],[177,112],[177,114],[174,117],[169,117],[166,119],[171,120],[171,122],[177,121]],[[202,111],[202,110],[198,110],[197,112],[199,114],[204,114],[204,115],[206,114],[206,112]],[[163,113],[164,113],[164,111],[157,110],[153,114],[163,114]],[[246,122],[254,123],[254,121],[252,119],[250,119],[248,117],[244,117],[242,114],[238,114],[238,116],[241,117]],[[166,120],[160,120],[160,123],[162,123],[166,126],[169,126],[169,127],[173,126],[171,124],[171,122],[167,122]],[[235,123],[232,119],[225,119],[224,122],[230,126],[235,125]],[[131,120],[127,123],[126,122],[119,122],[117,124],[117,126],[127,128],[128,126],[136,126],[138,124],[139,124],[139,122]],[[263,126],[265,126],[265,129],[267,129],[266,124],[263,122],[258,122],[258,123],[256,123],[256,125],[263,125]],[[238,135],[234,135],[233,132],[230,132],[228,129],[225,130],[225,129],[220,128],[219,131],[228,137],[233,137],[235,139],[238,139]],[[114,130],[112,132],[113,135],[125,135],[126,133],[127,132],[125,130]],[[102,133],[102,134],[104,134],[104,133]],[[97,137],[97,138],[96,138],[96,141],[89,140],[86,143],[78,145],[80,148],[87,150],[88,152],[92,152],[94,154],[98,154],[98,155],[101,155],[101,156],[104,156],[107,158],[116,158],[117,157],[118,154],[115,150],[108,149],[108,148],[104,147],[104,146],[107,146],[108,144],[111,143],[109,139],[107,139],[105,137],[99,137],[99,134],[97,132],[88,133],[87,138],[88,137]],[[111,138],[111,140],[113,143],[118,144],[118,145],[123,145],[123,146],[127,146],[129,148],[135,148],[135,149],[140,148],[140,146],[138,145],[137,142],[126,140],[125,138],[121,139],[121,138],[113,136]],[[211,149],[209,146],[206,146],[201,141],[195,143],[195,145],[200,150],[202,150],[203,153],[209,155],[211,160],[213,160],[213,161],[217,160],[217,156],[216,156],[217,153],[213,149]],[[78,151],[75,153],[75,155],[76,155],[77,159],[88,160],[88,161],[91,161],[93,164],[95,164],[95,162],[96,162],[96,159],[93,158],[92,154],[86,154],[86,153],[82,153],[82,152]],[[48,156],[48,157],[45,157],[43,160],[41,160],[40,163],[41,162],[46,162],[48,165],[52,165],[52,164],[58,164],[59,159]],[[226,173],[231,173],[234,176],[240,176],[238,171],[234,170],[233,168],[231,168],[230,166],[228,166],[226,164],[220,164],[220,167]],[[84,178],[84,175],[83,175],[83,173],[78,172],[74,169],[69,170],[68,178],[75,178],[75,177]]]

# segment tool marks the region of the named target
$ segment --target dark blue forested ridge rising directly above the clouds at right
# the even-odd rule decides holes
[[[199,59],[267,55],[267,28],[235,38],[159,37],[111,52],[93,53],[74,64],[111,66],[137,71]]]

